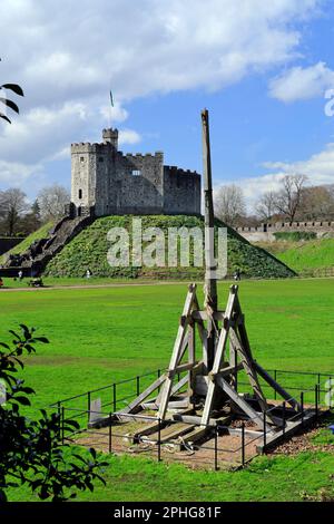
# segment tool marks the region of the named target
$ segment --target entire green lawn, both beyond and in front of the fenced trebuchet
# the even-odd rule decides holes
[[[219,284],[222,308],[228,285]],[[50,339],[26,359],[24,371],[36,405],[45,406],[164,368],[186,291],[184,283],[0,291],[0,340],[10,340],[7,330],[21,322]],[[239,297],[254,355],[266,368],[334,372],[334,280],[242,281]],[[110,457],[107,487],[80,499],[293,501],[333,489],[333,470],[334,455],[321,452],[259,457],[246,470],[218,474]]]

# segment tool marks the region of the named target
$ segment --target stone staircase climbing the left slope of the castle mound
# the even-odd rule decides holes
[[[61,219],[50,231],[48,239],[33,242],[30,248],[19,256],[9,258],[0,273],[3,276],[16,276],[22,270],[24,276],[38,276],[46,269],[48,262],[59,253],[85,227],[91,224],[90,216]]]

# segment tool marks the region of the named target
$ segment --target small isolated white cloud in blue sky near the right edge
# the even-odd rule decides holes
[[[334,71],[320,61],[311,67],[293,67],[269,83],[269,95],[285,103],[324,96],[334,88]]]

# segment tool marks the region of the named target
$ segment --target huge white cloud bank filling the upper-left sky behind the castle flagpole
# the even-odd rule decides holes
[[[11,0],[1,10],[1,78],[26,98],[0,127],[0,157],[31,166],[70,142],[122,124],[125,104],[174,90],[220,89],[297,56],[296,23],[322,0]],[[124,129],[122,143],[139,140]],[[29,167],[30,166],[30,167]],[[13,167],[14,173],[14,167]]]

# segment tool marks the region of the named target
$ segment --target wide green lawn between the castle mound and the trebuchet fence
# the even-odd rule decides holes
[[[228,285],[219,285],[223,309]],[[50,339],[26,370],[45,405],[167,366],[186,291],[185,283],[0,291],[1,338],[27,323]],[[244,281],[239,295],[267,368],[334,371],[334,280]]]

